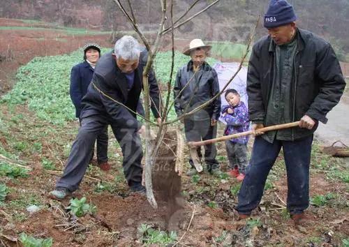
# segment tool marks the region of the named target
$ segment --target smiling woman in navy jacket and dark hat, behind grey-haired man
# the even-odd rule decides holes
[[[101,47],[96,43],[88,43],[84,46],[84,61],[75,65],[70,73],[70,98],[75,106],[75,117],[80,122],[81,100],[87,93],[87,87],[94,74],[96,63],[101,57]],[[107,126],[97,137],[97,162],[102,170],[110,170],[110,165],[107,163]],[[91,159],[94,157],[92,151]]]

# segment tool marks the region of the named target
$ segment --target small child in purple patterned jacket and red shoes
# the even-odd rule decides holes
[[[225,100],[229,105],[222,107],[222,115],[227,123],[224,135],[232,135],[247,131],[250,122],[248,120],[248,110],[244,102],[240,100],[240,95],[235,89],[228,89],[225,92]],[[238,181],[244,180],[247,162],[247,142],[248,137],[237,137],[225,141],[225,148],[228,154],[230,175],[237,177]]]

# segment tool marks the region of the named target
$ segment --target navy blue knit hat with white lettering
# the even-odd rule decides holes
[[[297,16],[292,5],[286,0],[271,0],[267,13],[265,13],[264,27],[280,27],[295,22]]]

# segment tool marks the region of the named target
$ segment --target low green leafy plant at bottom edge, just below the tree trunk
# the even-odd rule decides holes
[[[147,246],[151,244],[159,244],[165,246],[168,244],[174,244],[177,240],[176,232],[164,232],[161,230],[155,230],[151,225],[142,224],[138,227],[138,232],[141,234],[141,241]]]

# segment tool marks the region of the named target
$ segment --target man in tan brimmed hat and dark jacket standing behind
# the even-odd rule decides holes
[[[186,65],[178,70],[174,84],[174,109],[177,116],[190,112],[196,107],[207,102],[219,93],[218,77],[216,70],[205,62],[211,45],[205,45],[202,40],[191,40],[189,49],[184,52],[191,57]],[[216,137],[216,122],[221,111],[221,98],[218,97],[207,107],[184,118],[184,129],[188,142],[209,140]],[[201,150],[198,147],[198,156],[201,158]],[[189,160],[191,170],[188,176],[196,173],[193,160]],[[205,163],[207,171],[211,174],[220,174],[219,164],[216,160],[216,146],[205,145]]]

